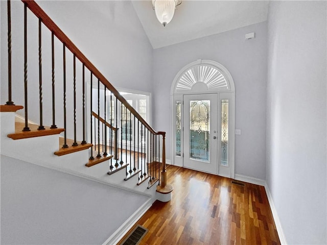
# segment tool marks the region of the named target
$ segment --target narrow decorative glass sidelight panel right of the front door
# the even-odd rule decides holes
[[[221,161],[228,166],[228,100],[221,100]]]

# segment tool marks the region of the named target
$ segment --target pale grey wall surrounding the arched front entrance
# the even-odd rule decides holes
[[[244,35],[256,33],[246,40]],[[265,179],[266,162],[266,35],[262,22],[244,28],[154,50],[154,129],[166,131],[171,142],[170,89],[177,72],[198,59],[221,63],[230,72],[236,88],[235,173]],[[171,144],[166,146],[171,159]]]

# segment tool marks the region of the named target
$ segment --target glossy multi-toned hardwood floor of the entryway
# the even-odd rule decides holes
[[[167,169],[172,200],[155,201],[138,220],[149,229],[139,244],[281,244],[263,186]]]

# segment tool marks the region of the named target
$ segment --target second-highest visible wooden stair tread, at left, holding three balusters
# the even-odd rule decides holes
[[[8,134],[9,138],[12,139],[26,139],[26,138],[33,138],[33,137],[40,137],[40,136],[47,136],[47,135],[54,135],[60,134],[61,132],[65,131],[62,128],[51,129],[50,127],[44,127],[44,130],[38,130],[38,125],[36,124],[28,124],[30,131],[22,131],[25,127],[24,122],[15,122],[15,133]]]

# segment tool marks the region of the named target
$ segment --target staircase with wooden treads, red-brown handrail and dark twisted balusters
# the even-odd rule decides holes
[[[24,13],[22,46],[11,38],[20,35],[12,30],[12,4]],[[8,72],[8,80],[1,88],[8,90],[8,101],[0,107],[1,154],[143,193],[152,203],[170,201],[166,133],[152,129],[34,1],[7,1],[7,15],[8,62],[2,72]],[[31,19],[38,23],[32,28]],[[17,59],[24,67],[12,65]],[[137,217],[130,220],[110,242],[118,241]]]

